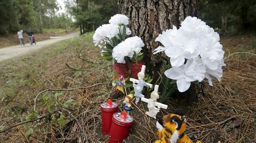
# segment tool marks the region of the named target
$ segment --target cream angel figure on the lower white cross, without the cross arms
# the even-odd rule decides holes
[[[157,92],[153,91],[150,95],[150,99],[147,103],[147,108],[148,111],[146,112],[146,114],[149,117],[152,117],[154,119],[156,119],[156,115],[157,113],[160,111],[161,107],[155,107],[155,102],[157,101],[157,99],[159,98],[159,95],[157,94]]]

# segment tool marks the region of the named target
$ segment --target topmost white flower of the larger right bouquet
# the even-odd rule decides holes
[[[192,38],[198,38],[208,31],[209,26],[204,21],[197,17],[188,16],[180,24],[180,30],[187,36]]]

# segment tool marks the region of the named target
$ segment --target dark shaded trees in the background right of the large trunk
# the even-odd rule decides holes
[[[255,0],[200,0],[200,18],[220,34],[255,30]]]

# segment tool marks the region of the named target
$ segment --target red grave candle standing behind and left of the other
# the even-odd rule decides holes
[[[117,112],[118,105],[115,102],[112,102],[110,99],[105,103],[101,103],[101,120],[102,120],[102,134],[109,134],[112,116]]]

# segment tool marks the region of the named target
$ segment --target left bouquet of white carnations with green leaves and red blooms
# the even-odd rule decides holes
[[[112,16],[109,24],[103,24],[95,30],[93,42],[101,48],[101,56],[112,61],[113,69],[118,75],[137,78],[145,64],[144,54],[141,52],[145,44],[138,36],[127,38],[132,33],[128,24],[126,15]],[[149,75],[145,75],[145,78],[148,83],[152,81]],[[126,87],[129,86],[132,84],[128,83]]]

